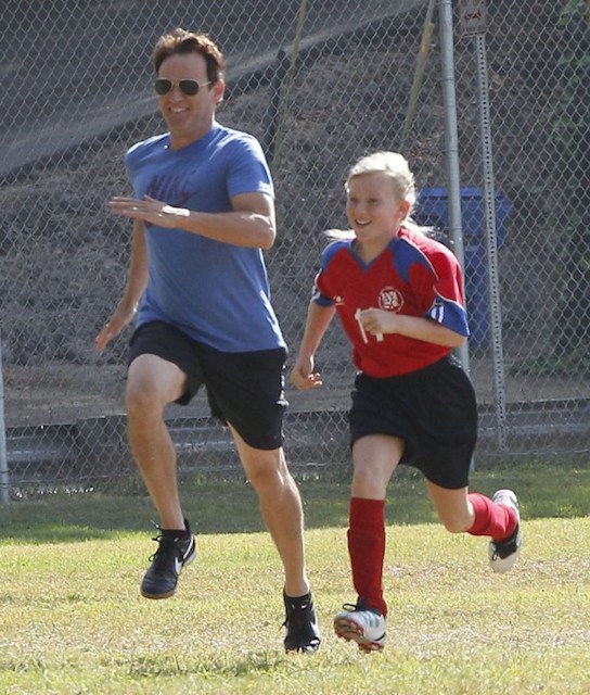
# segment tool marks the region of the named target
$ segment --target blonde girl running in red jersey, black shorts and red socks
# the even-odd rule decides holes
[[[397,465],[426,479],[440,521],[452,533],[489,536],[497,572],[518,556],[516,495],[490,500],[467,488],[477,437],[475,393],[451,358],[469,336],[463,278],[453,254],[411,222],[413,175],[403,156],[377,152],[349,172],[350,231],[331,231],[293,368],[302,390],[322,386],[313,358],[335,313],[358,368],[349,426],[354,476],[348,552],[355,605],[334,618],[339,637],[365,652],[385,645],[385,497]]]

